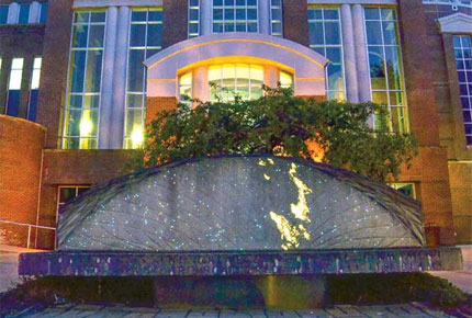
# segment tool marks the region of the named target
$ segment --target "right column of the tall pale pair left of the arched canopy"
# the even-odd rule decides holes
[[[130,14],[131,10],[128,7],[121,7],[117,14],[116,50],[113,72],[113,107],[110,123],[111,149],[123,148]]]

